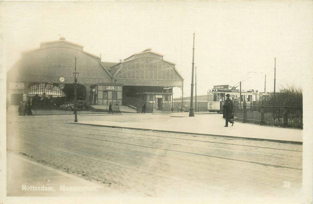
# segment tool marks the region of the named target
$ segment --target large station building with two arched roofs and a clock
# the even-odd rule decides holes
[[[59,40],[44,42],[22,53],[8,71],[7,93],[12,105],[33,96],[74,99],[74,69],[79,72],[77,99],[87,105],[128,105],[132,99],[171,109],[172,87],[182,87],[175,64],[150,48],[119,63],[102,62],[82,45]]]

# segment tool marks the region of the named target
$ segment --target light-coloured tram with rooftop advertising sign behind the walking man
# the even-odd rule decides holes
[[[223,105],[225,101],[225,95],[229,94],[233,103],[240,103],[240,91],[239,90],[217,90],[208,92],[208,112],[223,112]],[[253,90],[241,91],[241,102],[246,101],[247,108],[253,105],[253,102],[257,100],[257,94]],[[241,108],[243,103],[241,103]]]

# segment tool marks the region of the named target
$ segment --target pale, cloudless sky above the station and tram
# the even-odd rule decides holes
[[[304,82],[313,66],[311,1],[0,2],[1,72],[41,42],[66,40],[119,62],[146,48],[176,64],[190,96],[192,41],[197,95],[214,85],[276,91]],[[309,84],[311,86],[311,84]],[[239,88],[239,87],[238,87]],[[311,87],[310,87],[311,89]],[[174,89],[174,98],[181,89]]]

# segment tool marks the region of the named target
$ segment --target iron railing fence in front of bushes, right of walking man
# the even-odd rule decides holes
[[[250,106],[233,105],[233,113],[238,121],[260,125],[283,127],[303,127],[303,109],[295,106]]]

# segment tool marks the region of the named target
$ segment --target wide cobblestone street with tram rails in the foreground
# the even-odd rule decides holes
[[[121,194],[285,197],[301,188],[302,145],[69,122],[11,115],[7,150]]]

